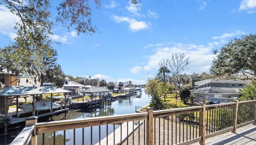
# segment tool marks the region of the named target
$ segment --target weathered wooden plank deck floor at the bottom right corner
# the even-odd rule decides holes
[[[198,145],[199,143],[193,144]],[[205,141],[206,145],[256,145],[256,125],[246,125],[218,136],[210,137]]]

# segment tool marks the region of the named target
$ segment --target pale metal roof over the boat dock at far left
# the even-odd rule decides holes
[[[54,87],[36,87],[36,86],[14,86],[0,90],[0,96],[20,96],[20,95],[37,95],[37,94],[52,94],[52,93],[66,93],[69,90]]]

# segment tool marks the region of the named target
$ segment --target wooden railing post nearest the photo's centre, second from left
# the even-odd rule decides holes
[[[153,108],[148,107],[148,118],[147,118],[147,145],[153,145]]]

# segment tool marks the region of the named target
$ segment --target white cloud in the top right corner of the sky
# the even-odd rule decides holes
[[[243,0],[240,4],[239,11],[246,10],[249,14],[256,12],[256,0]]]

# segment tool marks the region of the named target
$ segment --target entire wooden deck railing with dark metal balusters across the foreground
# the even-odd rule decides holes
[[[204,145],[208,137],[236,133],[238,127],[249,123],[256,125],[256,99],[42,123],[30,117],[12,144]]]

